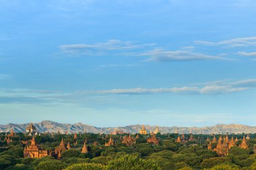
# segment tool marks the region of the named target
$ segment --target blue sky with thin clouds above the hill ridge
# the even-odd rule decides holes
[[[256,126],[254,0],[0,0],[0,124]]]

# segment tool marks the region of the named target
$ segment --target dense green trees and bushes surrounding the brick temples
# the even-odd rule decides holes
[[[61,138],[65,143],[69,141],[71,149],[63,151],[62,159],[43,157],[41,159],[24,158],[24,144],[21,140],[30,140],[32,136],[16,134],[12,142],[7,144],[5,134],[1,134],[0,142],[0,169],[210,169],[210,170],[256,170],[256,154],[253,147],[256,144],[256,134],[251,134],[248,140],[250,148],[242,149],[232,147],[226,157],[218,157],[216,152],[207,150],[207,137],[212,136],[196,134],[195,141],[175,142],[177,134],[156,134],[159,139],[158,146],[146,142],[148,135],[139,135],[135,144],[126,146],[121,143],[121,135],[112,135],[117,142],[114,146],[104,146],[108,138],[102,139],[100,134],[77,134],[78,146],[73,146],[72,134],[41,134],[36,136],[36,143],[44,150],[55,151]],[[103,135],[106,136],[106,135]],[[243,134],[238,138],[242,138]],[[135,135],[133,135],[135,137]],[[216,136],[218,137],[218,136]],[[231,137],[231,135],[230,135]],[[187,136],[186,136],[187,138]],[[82,154],[82,146],[87,140],[88,153]],[[98,144],[94,146],[94,142]],[[241,140],[237,142],[239,144]]]

